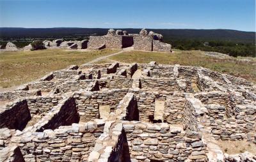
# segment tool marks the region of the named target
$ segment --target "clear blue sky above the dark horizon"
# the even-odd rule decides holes
[[[0,0],[0,27],[255,31],[255,0]]]

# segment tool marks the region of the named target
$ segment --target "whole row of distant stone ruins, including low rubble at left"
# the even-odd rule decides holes
[[[172,45],[163,43],[163,36],[154,33],[153,31],[147,32],[142,29],[140,34],[128,34],[127,31],[109,29],[108,33],[104,36],[90,36],[90,40],[82,41],[64,41],[58,40],[44,40],[45,48],[64,48],[64,49],[90,49],[101,50],[103,48],[127,48],[134,47],[134,50],[146,51],[159,51],[159,52],[172,52]],[[31,50],[31,44],[24,47],[22,50]],[[8,42],[6,50],[18,50],[16,45]]]

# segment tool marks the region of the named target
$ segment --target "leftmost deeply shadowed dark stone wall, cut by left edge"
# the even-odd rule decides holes
[[[15,101],[0,109],[0,128],[22,130],[31,119],[27,101]]]

